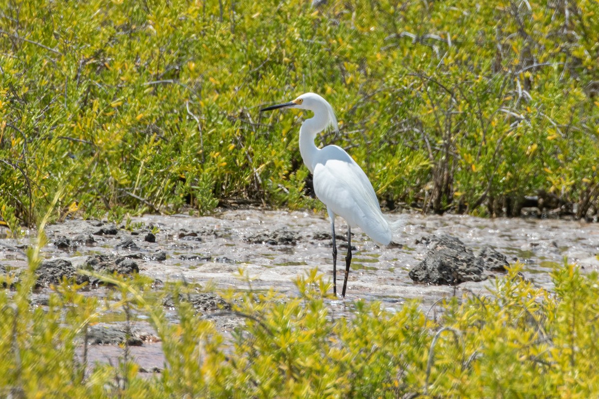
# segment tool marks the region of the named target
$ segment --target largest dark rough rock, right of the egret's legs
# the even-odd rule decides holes
[[[459,284],[464,281],[483,281],[483,267],[456,237],[443,234],[420,240],[426,242],[429,251],[416,267],[410,270],[410,278],[427,284]]]

